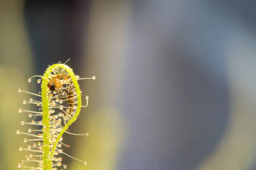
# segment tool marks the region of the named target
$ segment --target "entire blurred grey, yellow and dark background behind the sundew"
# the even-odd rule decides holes
[[[24,152],[18,88],[67,65],[89,106],[70,170],[256,170],[256,2],[0,0],[0,166]],[[83,99],[85,100],[85,99]],[[28,106],[26,106],[28,107]]]

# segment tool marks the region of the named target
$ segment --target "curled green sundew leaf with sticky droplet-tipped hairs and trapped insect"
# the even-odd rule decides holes
[[[65,62],[66,63],[66,62]],[[38,106],[38,110],[22,110],[19,113],[28,113],[31,122],[21,121],[21,125],[28,125],[28,132],[17,130],[17,134],[27,136],[23,139],[26,147],[19,147],[20,151],[25,151],[25,158],[18,164],[22,170],[63,170],[67,165],[61,163],[62,156],[68,156],[78,160],[84,165],[86,161],[79,160],[66,154],[62,147],[69,148],[65,144],[62,135],[86,135],[70,133],[69,126],[77,120],[81,107],[87,107],[88,96],[85,96],[85,105],[82,105],[82,91],[79,88],[78,80],[92,79],[80,78],[75,75],[72,68],[58,63],[49,66],[44,75],[35,75],[28,79],[31,82],[33,77],[39,77],[37,80],[41,84],[39,94],[18,89],[18,92],[25,92],[33,95],[29,101],[23,100],[23,104],[32,104]]]

